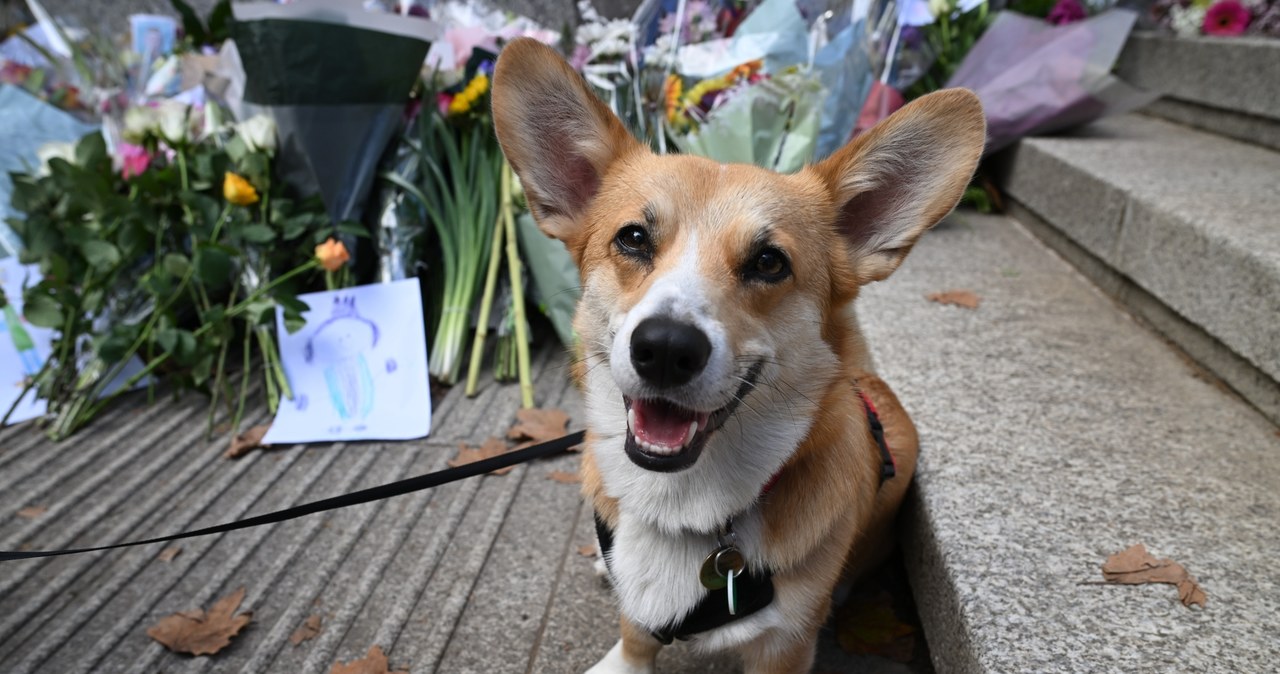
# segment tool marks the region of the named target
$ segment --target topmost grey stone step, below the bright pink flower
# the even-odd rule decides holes
[[[1280,40],[1134,33],[1116,70],[1164,95],[1147,114],[1280,150]]]

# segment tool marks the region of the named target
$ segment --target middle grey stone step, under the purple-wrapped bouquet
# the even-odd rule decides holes
[[[1280,421],[1280,153],[1125,115],[993,164],[1016,217]]]

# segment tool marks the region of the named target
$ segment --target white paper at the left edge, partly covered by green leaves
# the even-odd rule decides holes
[[[35,265],[20,265],[15,257],[0,260],[0,288],[9,304],[0,310],[0,418],[13,407],[27,377],[35,376],[52,353],[54,331],[37,327],[22,317],[22,288],[40,280]],[[47,404],[28,391],[14,408],[9,423],[40,417]]]

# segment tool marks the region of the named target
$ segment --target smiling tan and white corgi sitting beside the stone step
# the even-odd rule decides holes
[[[924,96],[781,175],[654,155],[557,52],[517,40],[493,116],[581,272],[582,491],[622,614],[589,671],[650,673],[676,638],[751,674],[809,671],[837,586],[890,553],[915,468],[852,304],[960,200],[978,98]]]

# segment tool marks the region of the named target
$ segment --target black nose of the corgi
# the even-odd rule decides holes
[[[710,356],[710,340],[689,324],[645,318],[631,333],[631,364],[659,389],[687,384],[707,367]]]

